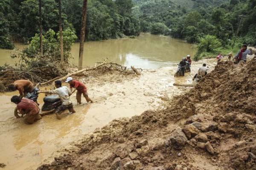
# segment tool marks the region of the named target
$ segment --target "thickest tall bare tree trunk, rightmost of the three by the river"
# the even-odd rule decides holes
[[[83,3],[83,16],[82,16],[81,35],[80,35],[78,70],[81,70],[82,65],[83,65],[84,39],[85,39],[86,15],[87,15],[87,2],[88,2],[88,0],[84,0],[84,3]]]

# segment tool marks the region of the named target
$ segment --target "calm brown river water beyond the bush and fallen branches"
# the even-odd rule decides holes
[[[15,47],[22,49],[24,45],[15,44]],[[0,65],[6,62],[14,64],[15,59],[9,57],[13,53],[18,52],[0,49]],[[79,43],[73,45],[71,54],[73,59],[70,62],[78,65]],[[128,67],[134,65],[139,68],[159,68],[169,65],[170,62],[180,61],[187,54],[194,54],[191,44],[143,33],[136,39],[122,38],[84,43],[83,66],[94,65],[95,62],[108,58],[112,62]]]

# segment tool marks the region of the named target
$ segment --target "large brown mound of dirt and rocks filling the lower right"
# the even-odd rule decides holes
[[[38,170],[254,170],[255,65],[221,62],[167,109],[114,120]]]

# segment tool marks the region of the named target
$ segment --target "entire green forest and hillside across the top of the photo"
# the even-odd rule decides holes
[[[82,0],[62,0],[63,28],[81,30]],[[241,20],[240,15],[244,15]],[[0,48],[39,33],[38,0],[0,1]],[[58,32],[58,3],[42,0],[44,34]],[[256,43],[256,0],[89,0],[86,40],[164,34],[198,43],[198,55],[230,48],[241,20],[241,43]]]

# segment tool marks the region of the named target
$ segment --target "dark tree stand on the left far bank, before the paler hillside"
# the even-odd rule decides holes
[[[80,36],[83,0],[62,0],[62,23]],[[105,40],[139,35],[140,23],[132,15],[131,0],[89,0],[87,40]],[[13,48],[12,42],[27,43],[39,33],[38,0],[0,1],[0,48]],[[42,25],[58,32],[58,1],[42,0]]]

